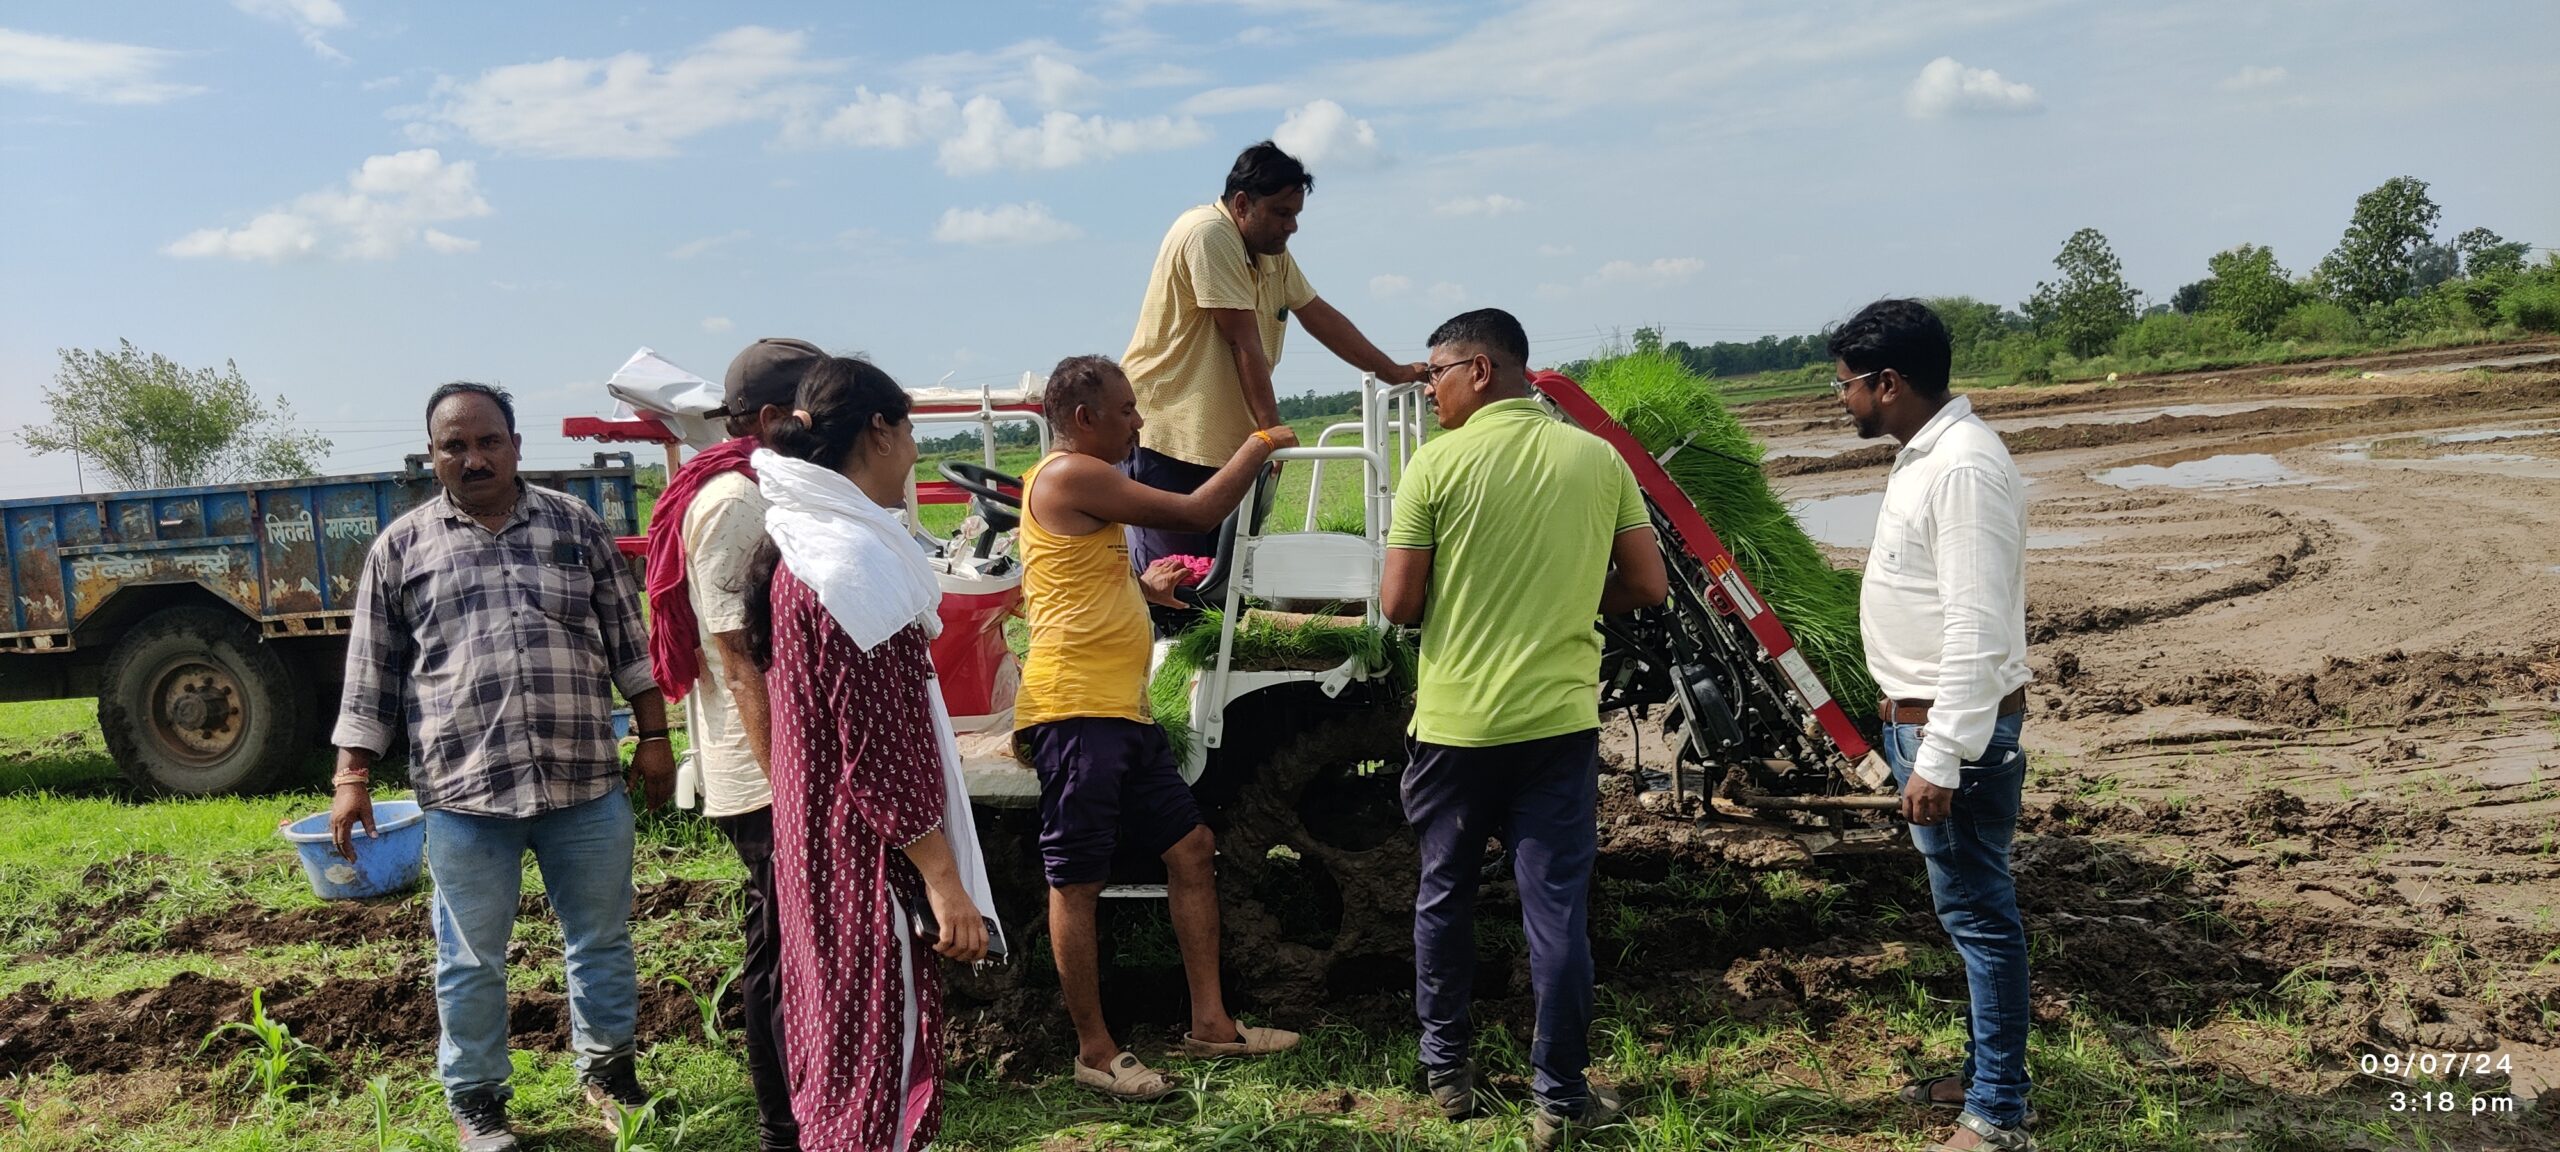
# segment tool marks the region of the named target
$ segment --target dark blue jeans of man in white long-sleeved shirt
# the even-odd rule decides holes
[[[2028,783],[2017,722],[1999,717],[1981,758],[1964,765],[1946,822],[1912,827],[1912,845],[1928,860],[1938,924],[1964,957],[1974,1001],[1964,1106],[2004,1129],[2028,1119],[2028,924],[2017,916],[2017,883],[2010,881],[2017,796]],[[1910,781],[1917,753],[1917,727],[1884,724],[1884,763],[1894,768],[1894,786]]]

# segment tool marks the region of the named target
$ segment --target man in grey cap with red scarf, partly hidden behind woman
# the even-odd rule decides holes
[[[671,701],[694,694],[694,763],[701,814],[748,865],[745,970],[748,1078],[755,1083],[758,1144],[799,1149],[791,1080],[781,1057],[781,937],[773,924],[773,788],[765,742],[765,681],[748,660],[748,563],[765,535],[765,497],[748,456],[771,417],[791,412],[812,364],[809,340],[765,338],[730,361],[722,404],[730,440],[684,461],[648,525],[650,666]]]

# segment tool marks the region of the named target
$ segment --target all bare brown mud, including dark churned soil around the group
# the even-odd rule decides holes
[[[1976,407],[2033,484],[2033,776],[2017,873],[2038,1021],[2099,1021],[2181,1101],[2235,1108],[2235,1147],[2340,1147],[2294,1124],[2383,1119],[2388,1093],[2419,1078],[2368,1075],[2365,1057],[2491,1052],[2501,1070],[2435,1080],[2516,1111],[2450,1121],[2437,1147],[2560,1147],[2560,348],[2010,389],[1976,394]],[[1743,415],[1800,520],[1838,563],[1864,561],[1889,453],[1848,438],[1828,397]],[[1393,742],[1393,730],[1372,737]],[[1613,745],[1623,763],[1623,724]],[[1367,755],[1344,745],[1308,771]],[[1920,1055],[1861,1006],[1961,998],[1910,858],[1772,870],[1789,860],[1646,812],[1628,776],[1605,781],[1603,824],[1603,1009],[1633,1044],[1797,1021],[1810,1047],[1861,1068]],[[1229,914],[1242,1006],[1290,1027],[1411,1032],[1411,968],[1311,960],[1339,952],[1370,904],[1408,891],[1408,837],[1357,827],[1275,855],[1254,827],[1229,837],[1249,860],[1221,868],[1231,899],[1270,896]],[[1329,896],[1300,899],[1283,865],[1326,868]],[[128,860],[95,883],[146,868]],[[105,906],[67,906],[38,960],[136,947],[102,929],[159,896],[120,888]],[[643,891],[640,916],[722,932],[730,901],[717,883],[666,881]],[[1477,988],[1485,1019],[1526,1037],[1508,901],[1508,881],[1490,876]],[[540,899],[527,914],[543,914]],[[269,1011],[300,1037],[333,1052],[433,1044],[420,901],[287,922],[259,909],[189,916],[151,947],[228,955],[279,929],[417,950],[379,975],[269,986]],[[1106,932],[1111,1014],[1142,1055],[1162,1052],[1183,1019],[1165,929],[1144,909],[1114,909]],[[532,960],[558,973],[556,957]],[[709,988],[717,975],[689,978]],[[520,1047],[566,1044],[550,980],[515,991]],[[0,1073],[159,1073],[174,1080],[151,1106],[192,1098],[210,1075],[205,1037],[246,1016],[248,991],[187,973],[97,998],[31,983],[0,996]],[[735,993],[727,1016],[735,1027]],[[952,1055],[998,1080],[1062,1068],[1065,1019],[1037,973],[965,980],[952,1024]],[[645,1039],[699,1029],[686,991],[645,991]],[[212,1055],[241,1044],[220,1037]],[[1782,1080],[1805,1065],[1802,1052],[1772,1060],[1759,1073]],[[356,1062],[340,1068],[353,1078]]]

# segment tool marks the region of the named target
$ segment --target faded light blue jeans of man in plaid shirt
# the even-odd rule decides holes
[[[614,788],[530,819],[428,809],[435,878],[435,1075],[445,1101],[509,1098],[507,937],[525,886],[525,850],[561,916],[568,968],[568,1047],[579,1070],[630,1057],[640,1024],[632,965],[632,801]]]

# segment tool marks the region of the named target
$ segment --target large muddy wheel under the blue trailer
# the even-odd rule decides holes
[[[251,794],[307,763],[317,709],[294,666],[246,620],[177,607],[136,625],[108,655],[97,727],[146,794]]]

